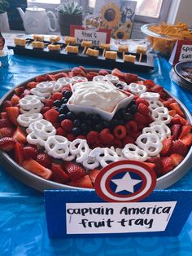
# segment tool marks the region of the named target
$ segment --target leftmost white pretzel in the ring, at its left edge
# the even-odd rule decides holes
[[[19,115],[19,117],[17,117],[17,121],[19,122],[20,126],[28,127],[34,121],[39,121],[42,118],[41,113],[25,113]]]

